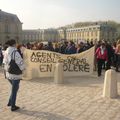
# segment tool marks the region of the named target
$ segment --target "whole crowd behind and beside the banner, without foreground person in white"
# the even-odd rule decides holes
[[[73,41],[64,41],[64,42],[48,42],[44,44],[42,42],[27,43],[23,45],[17,45],[17,49],[20,52],[21,56],[21,47],[25,47],[31,50],[48,50],[53,52],[58,52],[61,54],[76,54],[81,53],[89,48],[95,46],[95,65],[98,70],[98,76],[101,76],[102,69],[110,69],[111,66],[116,68],[116,71],[119,71],[120,66],[120,40],[114,42],[113,44],[108,43],[107,41],[101,40],[97,43],[89,42],[80,42],[75,44]],[[2,64],[2,59],[4,56],[4,50],[7,48],[7,43],[4,47],[0,47],[0,64]]]

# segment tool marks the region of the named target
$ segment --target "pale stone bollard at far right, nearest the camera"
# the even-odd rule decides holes
[[[105,72],[103,97],[116,98],[117,96],[117,74],[110,69]]]

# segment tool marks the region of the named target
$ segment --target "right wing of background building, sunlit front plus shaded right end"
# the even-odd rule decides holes
[[[79,40],[84,41],[99,41],[107,40],[113,42],[117,39],[117,30],[107,24],[91,25],[80,28],[68,28],[59,29],[59,40],[66,39],[68,41],[72,40],[78,42]]]

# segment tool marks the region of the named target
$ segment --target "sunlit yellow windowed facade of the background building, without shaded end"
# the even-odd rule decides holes
[[[99,40],[100,26],[87,26],[81,28],[71,28],[66,31],[67,40],[78,42],[79,40],[93,41]]]

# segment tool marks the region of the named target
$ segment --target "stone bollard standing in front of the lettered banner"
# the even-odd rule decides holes
[[[63,78],[63,64],[57,63],[55,65],[55,72],[54,72],[54,83],[62,84],[64,82]]]

